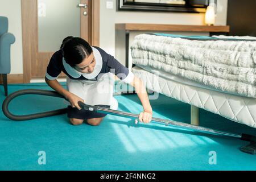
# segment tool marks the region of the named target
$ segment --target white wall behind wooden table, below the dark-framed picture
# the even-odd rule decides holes
[[[107,1],[113,2],[113,9],[106,9]],[[101,0],[100,5],[100,47],[112,55],[115,55],[115,23],[204,24],[203,13],[116,11],[116,3],[117,1],[115,0]],[[228,0],[218,0],[216,25],[226,25],[227,5]],[[140,33],[141,32],[133,32],[130,36],[130,41],[133,40],[135,35]],[[125,64],[125,60],[119,61]]]

